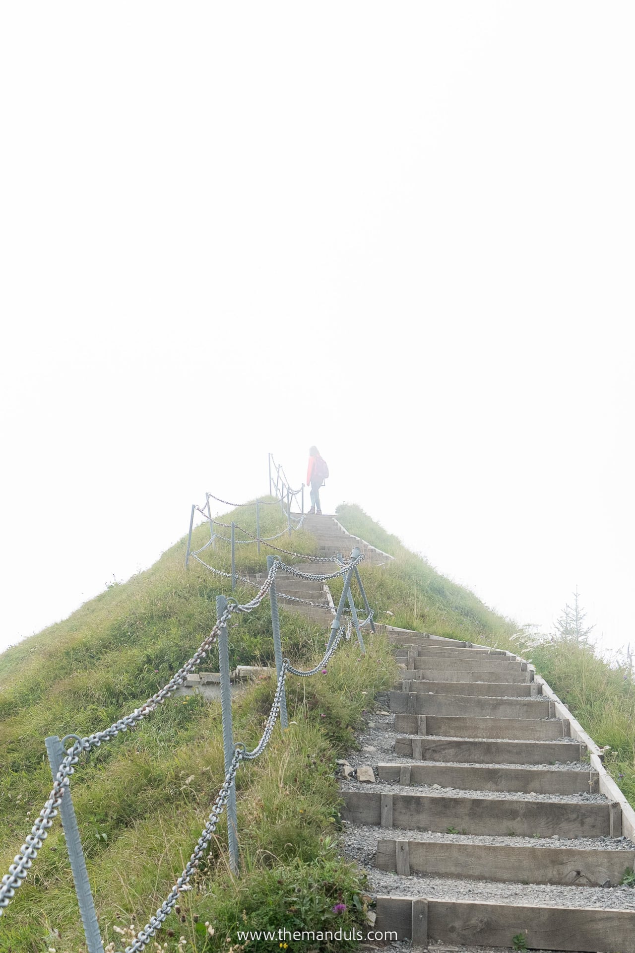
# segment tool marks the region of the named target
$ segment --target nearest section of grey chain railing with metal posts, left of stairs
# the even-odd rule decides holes
[[[199,551],[200,552],[200,551]],[[193,554],[192,554],[193,555]],[[198,557],[196,557],[198,559]],[[163,704],[172,693],[181,687],[187,677],[206,659],[212,646],[218,644],[219,670],[221,677],[221,710],[223,720],[223,742],[225,753],[225,781],[221,785],[218,795],[212,805],[208,820],[205,823],[200,838],[198,839],[189,862],[183,868],[181,875],[176,879],[168,897],[157,909],[154,916],[149,918],[145,927],[137,933],[134,941],[126,947],[126,953],[141,953],[146,948],[150,939],[156,934],[166,921],[169,913],[176,905],[179,894],[189,889],[189,881],[199,866],[205,855],[209,841],[216,830],[218,821],[227,810],[228,814],[228,849],[229,862],[232,870],[238,872],[238,829],[236,821],[236,788],[235,778],[238,767],[243,760],[254,760],[258,758],[267,748],[271,739],[273,729],[278,717],[281,727],[288,727],[287,700],[285,694],[285,681],[288,675],[308,678],[322,671],[327,662],[333,657],[345,635],[345,626],[342,625],[342,617],[345,606],[348,601],[351,606],[351,618],[362,651],[365,651],[364,640],[361,635],[359,621],[354,612],[354,603],[350,594],[350,582],[354,574],[359,578],[358,566],[363,559],[359,549],[354,549],[347,560],[340,559],[339,568],[332,573],[318,575],[315,573],[305,573],[298,570],[295,566],[283,563],[279,558],[268,557],[267,578],[263,581],[254,598],[248,602],[240,604],[234,598],[218,596],[216,598],[216,624],[209,635],[203,639],[197,651],[185,662],[185,664],[172,676],[166,685],[154,695],[152,695],[140,708],[135,708],[129,715],[126,715],[114,721],[109,728],[96,731],[93,734],[81,738],[77,735],[67,735],[60,740],[57,736],[51,736],[46,740],[47,751],[49,753],[50,767],[53,778],[53,785],[49,797],[44,803],[42,810],[36,821],[32,824],[30,833],[25,838],[20,847],[19,853],[15,856],[13,863],[10,864],[9,872],[2,878],[0,885],[0,917],[14,899],[16,891],[25,882],[30,868],[36,861],[39,851],[44,841],[47,839],[50,827],[58,812],[61,815],[64,835],[67,841],[69,851],[69,860],[75,891],[80,907],[80,914],[84,926],[84,932],[87,940],[88,953],[104,953],[99,924],[95,913],[92,892],[89,884],[89,876],[84,858],[84,852],[79,836],[79,829],[75,818],[71,798],[70,798],[70,779],[79,765],[79,758],[82,754],[88,754],[94,748],[99,748],[103,743],[114,740],[120,732],[133,729],[149,714],[156,711],[159,705]],[[198,559],[199,562],[202,560]],[[206,565],[203,563],[203,565]],[[212,567],[208,566],[208,569]],[[228,577],[229,574],[220,575]],[[312,669],[303,671],[291,665],[289,659],[283,658],[282,644],[280,636],[280,622],[278,617],[278,602],[276,593],[276,576],[280,572],[289,573],[298,578],[311,580],[327,580],[336,577],[344,578],[342,596],[339,600],[335,616],[333,618],[330,635],[327,641],[327,650],[324,658],[318,665]],[[362,587],[363,591],[363,587]],[[276,666],[276,690],[265,724],[263,735],[253,750],[248,751],[247,746],[239,742],[234,744],[232,735],[231,720],[231,695],[228,664],[228,621],[234,613],[249,613],[257,608],[262,601],[269,597],[271,609],[271,626],[273,631],[273,646]],[[366,593],[364,599],[367,605]],[[369,618],[372,613],[369,613]],[[368,621],[368,619],[367,619]],[[350,627],[350,622],[348,623]],[[74,739],[74,743],[64,751],[64,741]]]

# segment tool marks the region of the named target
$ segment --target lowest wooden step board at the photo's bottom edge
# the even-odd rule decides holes
[[[635,912],[593,907],[378,897],[377,932],[394,930],[415,946],[505,946],[519,934],[528,949],[635,953]]]

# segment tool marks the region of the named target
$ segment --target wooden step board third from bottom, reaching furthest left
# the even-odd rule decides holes
[[[342,817],[354,824],[501,837],[621,837],[619,819],[608,802],[526,801],[456,795],[342,792]]]

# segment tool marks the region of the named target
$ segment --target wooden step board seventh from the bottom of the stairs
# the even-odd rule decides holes
[[[458,715],[465,718],[547,719],[555,717],[548,699],[487,699],[468,695],[390,692],[390,711],[410,715]]]

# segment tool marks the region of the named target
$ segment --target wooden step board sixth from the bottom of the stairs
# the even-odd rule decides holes
[[[461,715],[395,715],[395,731],[403,732],[405,735],[525,741],[555,741],[559,738],[568,738],[570,734],[567,720],[464,718]]]

